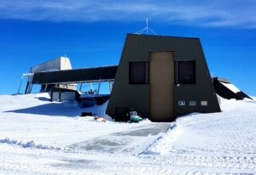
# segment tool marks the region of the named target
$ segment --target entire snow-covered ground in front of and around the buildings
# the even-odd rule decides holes
[[[256,101],[171,123],[86,120],[47,93],[0,96],[0,174],[256,173]]]

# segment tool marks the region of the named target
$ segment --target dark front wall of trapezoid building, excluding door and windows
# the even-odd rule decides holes
[[[128,34],[108,102],[109,116],[116,117],[116,107],[135,109],[143,117],[150,116],[150,84],[129,84],[129,62],[149,61],[149,53],[158,51],[173,51],[174,61],[195,60],[195,84],[173,85],[175,115],[170,116],[170,121],[191,112],[220,111],[198,38]],[[186,105],[179,106],[179,100],[186,101]],[[197,104],[189,106],[189,100],[195,100]],[[201,101],[207,101],[207,106],[201,106]]]

